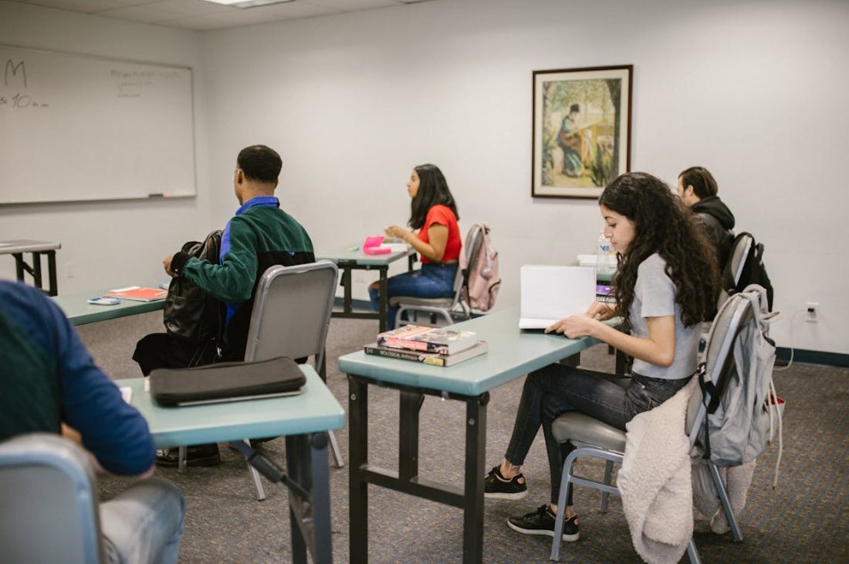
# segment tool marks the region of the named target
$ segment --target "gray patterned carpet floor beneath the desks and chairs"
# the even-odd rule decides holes
[[[148,332],[162,330],[162,314],[78,328],[92,355],[113,377],[140,376],[130,360],[135,342]],[[328,338],[328,385],[346,408],[347,380],[337,369],[337,357],[374,340],[375,322],[334,319]],[[605,346],[584,353],[582,365],[612,369],[614,357]],[[849,369],[794,364],[775,372],[779,394],[787,401],[784,451],[778,487],[773,488],[777,449],[758,459],[746,511],[739,515],[744,539],[734,543],[730,533],[710,533],[707,519],[696,513],[695,541],[704,562],[847,562],[849,561]],[[488,407],[487,461],[496,465],[512,430],[522,379],[491,393]],[[370,461],[396,468],[398,393],[372,388],[369,392]],[[421,412],[420,472],[462,486],[464,406],[457,401],[428,397]],[[337,432],[347,459],[347,433]],[[284,441],[263,446],[264,454],[284,460]],[[186,532],[180,562],[290,561],[286,490],[266,482],[268,497],[256,502],[245,463],[222,446],[222,464],[191,468],[186,474],[171,469],[157,473],[176,482],[186,496]],[[585,472],[599,473],[601,465],[587,463]],[[532,511],[549,491],[548,468],[540,433],[524,466],[528,496],[519,502],[487,501],[484,533],[486,562],[545,562],[549,537],[522,536],[507,528],[508,515]],[[348,469],[330,468],[333,553],[349,560]],[[102,499],[125,488],[128,479],[99,481]],[[575,507],[581,519],[581,539],[564,543],[561,560],[581,562],[639,562],[623,518],[622,505],[611,498],[610,511],[599,512],[599,494],[576,489]],[[369,489],[369,560],[371,562],[459,562],[462,560],[462,512],[383,489]],[[361,542],[361,541],[355,541]],[[686,561],[686,557],[683,559]]]

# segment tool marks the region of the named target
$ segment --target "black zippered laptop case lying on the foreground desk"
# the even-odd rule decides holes
[[[151,396],[166,406],[290,395],[305,383],[304,373],[288,356],[150,373]]]

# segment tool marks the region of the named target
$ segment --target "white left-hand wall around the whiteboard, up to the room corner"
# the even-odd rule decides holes
[[[0,206],[0,241],[35,239],[62,243],[57,254],[62,293],[134,282],[155,283],[167,278],[162,269],[163,257],[179,250],[182,242],[202,237],[213,228],[207,188],[208,133],[201,36],[0,2],[0,44],[194,68],[195,198]],[[4,136],[14,134],[0,131]],[[32,174],[37,177],[38,171]],[[3,182],[0,172],[0,184]],[[166,183],[167,178],[163,178],[163,185]],[[9,255],[0,256],[0,277],[15,277],[14,260]]]

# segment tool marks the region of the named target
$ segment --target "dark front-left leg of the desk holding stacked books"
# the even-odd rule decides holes
[[[362,466],[369,460],[369,385],[348,376],[349,550],[354,564],[369,561],[369,484]]]

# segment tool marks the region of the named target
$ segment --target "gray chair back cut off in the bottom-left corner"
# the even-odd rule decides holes
[[[0,443],[0,560],[102,562],[95,483],[86,455],[59,435]]]

